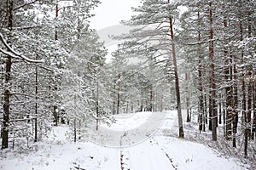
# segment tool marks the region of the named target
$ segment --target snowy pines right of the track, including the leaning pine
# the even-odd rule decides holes
[[[210,130],[213,141],[224,138],[233,147],[239,144],[244,156],[250,147],[253,155],[255,7],[253,0],[148,0],[133,8],[131,20],[123,21],[135,26],[129,34],[116,37],[125,39],[123,53],[166,63],[165,74],[169,73],[176,91],[180,138],[183,103],[188,122],[190,109],[196,110],[200,132]]]

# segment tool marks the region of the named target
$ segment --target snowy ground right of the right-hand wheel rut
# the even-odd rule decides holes
[[[172,156],[177,169],[243,169],[232,159],[224,159],[202,144],[170,137],[157,137],[156,141]]]

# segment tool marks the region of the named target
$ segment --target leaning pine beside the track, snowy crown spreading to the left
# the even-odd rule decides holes
[[[122,38],[132,38],[131,42],[126,45],[130,46],[127,51],[138,51],[137,55],[146,52],[154,52],[158,57],[169,56],[172,54],[172,64],[174,70],[177,109],[179,122],[179,137],[183,138],[183,122],[181,115],[181,103],[179,94],[179,85],[177,77],[177,59],[176,59],[176,42],[173,31],[174,20],[177,19],[177,6],[179,4],[169,1],[143,1],[139,8],[133,8],[137,15],[132,16],[131,20],[124,22],[128,26],[137,26],[137,29],[131,31],[129,35]],[[150,27],[152,26],[152,27]],[[170,31],[171,30],[171,31]]]

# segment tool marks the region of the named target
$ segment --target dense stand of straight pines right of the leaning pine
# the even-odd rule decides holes
[[[224,134],[233,147],[243,145],[247,156],[248,140],[253,140],[256,132],[256,3],[206,1],[185,5],[189,9],[181,18],[183,37],[179,41],[186,48],[189,65],[196,68],[189,72],[193,71],[197,88],[199,130],[206,131],[208,124],[212,140]],[[220,124],[221,136],[217,135]]]

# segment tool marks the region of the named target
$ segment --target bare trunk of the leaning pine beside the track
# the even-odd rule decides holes
[[[177,118],[178,118],[178,136],[179,138],[184,138],[183,132],[183,117],[181,111],[181,101],[179,94],[179,85],[178,85],[178,76],[177,76],[177,60],[176,60],[176,52],[175,52],[175,42],[174,42],[174,34],[172,27],[172,17],[169,17],[170,29],[171,29],[171,40],[172,40],[172,60],[173,60],[173,69],[174,69],[174,77],[175,77],[175,89],[176,89],[176,99],[177,99]]]

